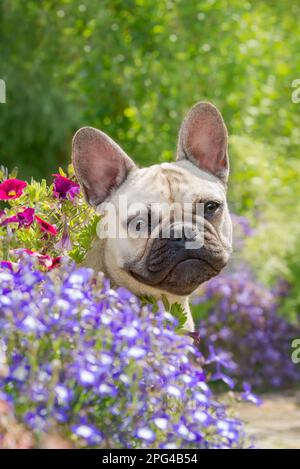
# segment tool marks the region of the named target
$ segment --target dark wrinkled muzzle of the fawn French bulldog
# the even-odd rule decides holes
[[[204,229],[170,226],[169,235],[148,240],[142,259],[127,266],[131,275],[144,284],[175,295],[188,295],[201,283],[217,275],[229,253],[215,228],[204,221]]]

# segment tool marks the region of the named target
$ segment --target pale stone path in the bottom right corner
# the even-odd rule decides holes
[[[256,447],[300,449],[300,390],[262,398],[260,407],[242,402],[235,408],[248,435],[254,436]]]

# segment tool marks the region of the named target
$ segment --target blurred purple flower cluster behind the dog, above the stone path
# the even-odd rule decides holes
[[[277,312],[287,293],[285,282],[269,290],[240,270],[210,280],[201,293],[193,300],[200,348],[212,356],[215,351],[227,356],[219,372],[221,368],[256,389],[299,383],[300,368],[291,360],[290,347],[300,327]]]

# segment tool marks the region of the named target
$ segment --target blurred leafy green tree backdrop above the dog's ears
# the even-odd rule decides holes
[[[0,161],[41,177],[82,125],[142,164],[172,158],[180,121],[209,99],[231,133],[298,157],[300,4],[241,0],[3,0]],[[263,155],[262,155],[263,157]]]

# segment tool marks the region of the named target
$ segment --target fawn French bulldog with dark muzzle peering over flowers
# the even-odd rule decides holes
[[[99,237],[85,265],[108,276],[138,296],[167,297],[187,314],[185,329],[194,324],[188,297],[227,264],[232,249],[232,226],[226,192],[229,175],[228,133],[221,113],[199,102],[184,118],[176,161],[139,168],[110,137],[92,127],[77,131],[72,162],[87,202],[105,217],[114,208],[120,232]],[[126,199],[127,210],[119,207]],[[149,207],[172,204],[192,207],[189,221],[174,222],[174,211],[159,210],[149,224]],[[136,205],[146,207],[136,210]],[[201,213],[194,209],[201,207]],[[134,209],[133,209],[134,208]],[[152,215],[151,215],[152,216]],[[192,225],[202,231],[195,235]],[[178,226],[182,231],[178,234]],[[132,233],[129,226],[134,226]],[[189,228],[185,230],[185,228]],[[175,232],[176,231],[176,232]],[[167,236],[162,236],[167,232]],[[202,243],[197,236],[202,233]],[[139,234],[141,234],[139,236]]]

